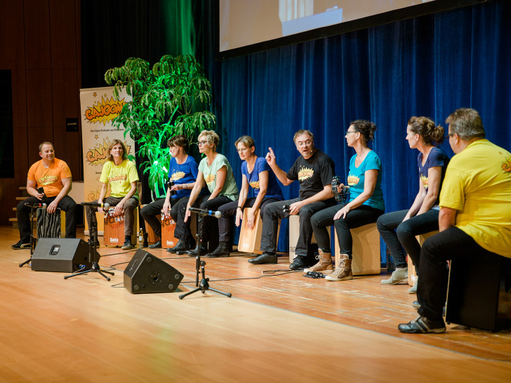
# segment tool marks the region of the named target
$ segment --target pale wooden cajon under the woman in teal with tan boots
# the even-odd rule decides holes
[[[340,252],[339,242],[336,236],[336,265],[339,264]],[[376,222],[364,224],[364,226],[351,229],[353,238],[353,275],[380,274],[381,255],[380,255],[380,233],[376,227]]]

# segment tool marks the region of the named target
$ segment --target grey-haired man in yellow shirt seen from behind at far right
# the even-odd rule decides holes
[[[456,155],[447,166],[440,192],[440,232],[428,238],[420,252],[419,317],[400,324],[401,332],[446,330],[442,309],[447,260],[483,254],[511,258],[511,154],[484,138],[475,109],[458,109],[446,123]]]

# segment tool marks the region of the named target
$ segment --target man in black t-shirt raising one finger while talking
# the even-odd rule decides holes
[[[268,203],[265,206],[260,246],[263,254],[248,260],[251,264],[277,263],[279,218],[300,215],[300,234],[296,243],[297,257],[289,265],[289,268],[294,270],[310,266],[306,262],[307,249],[312,238],[310,217],[335,203],[331,188],[332,178],[335,174],[332,159],[314,147],[314,135],[309,130],[298,130],[293,140],[301,156],[296,159],[288,173],[277,165],[271,147],[269,148],[270,152],[266,155],[266,161],[282,184],[288,185],[293,181],[300,182],[300,197]],[[282,208],[284,205],[289,206],[289,213],[284,212]]]

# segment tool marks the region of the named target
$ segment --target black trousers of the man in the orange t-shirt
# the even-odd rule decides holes
[[[56,196],[46,198],[49,204],[53,202]],[[41,200],[36,199],[34,196],[29,196],[29,198],[20,201],[18,206],[16,206],[16,219],[18,220],[20,239],[23,243],[29,243],[30,233],[32,232],[32,227],[30,227],[30,210],[32,209],[25,206],[25,203],[41,203]],[[70,196],[65,196],[60,200],[57,207],[66,212],[66,238],[77,238],[77,222],[75,219],[77,203]]]

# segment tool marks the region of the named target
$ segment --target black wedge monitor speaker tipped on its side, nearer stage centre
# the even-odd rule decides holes
[[[132,294],[173,293],[182,280],[178,270],[142,249],[124,270],[124,287]]]

